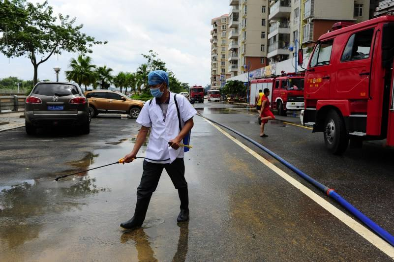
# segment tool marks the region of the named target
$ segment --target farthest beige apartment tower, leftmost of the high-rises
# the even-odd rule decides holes
[[[226,79],[231,77],[228,71],[228,35],[229,15],[224,14],[211,21],[211,88],[224,86]]]

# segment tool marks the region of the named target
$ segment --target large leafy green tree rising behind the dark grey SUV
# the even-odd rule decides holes
[[[33,84],[37,83],[38,66],[53,54],[62,52],[92,53],[94,37],[81,32],[83,25],[74,26],[76,18],[53,14],[44,3],[26,0],[0,1],[0,52],[6,57],[27,57],[33,65]]]

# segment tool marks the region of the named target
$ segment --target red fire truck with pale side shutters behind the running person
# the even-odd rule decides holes
[[[250,105],[255,106],[255,97],[259,90],[270,89],[271,108],[278,111],[279,115],[286,116],[287,110],[302,110],[304,74],[283,73],[281,76],[272,76],[256,79],[250,82]]]

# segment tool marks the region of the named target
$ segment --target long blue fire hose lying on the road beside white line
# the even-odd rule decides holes
[[[208,117],[205,117],[205,116],[203,116],[201,114],[198,114],[198,115],[203,117],[203,118],[205,118],[205,119],[207,119],[207,120],[209,120],[209,121],[211,121],[211,122],[213,122],[213,123],[215,123],[215,124],[217,124],[217,125],[220,125],[220,126],[226,128],[226,129],[236,133],[237,135],[239,135],[242,138],[246,139],[247,141],[249,141],[253,145],[259,147],[262,150],[264,150],[266,153],[268,153],[273,158],[278,160],[280,163],[282,163],[283,165],[288,167],[294,173],[296,173],[297,175],[301,176],[302,178],[304,178],[306,181],[308,181],[312,185],[314,185],[317,188],[319,188],[321,191],[323,191],[325,194],[327,194],[327,196],[329,196],[329,197],[333,198],[334,200],[336,200],[339,204],[341,204],[344,208],[346,208],[346,210],[348,210],[355,217],[357,217],[358,219],[363,221],[363,223],[366,226],[368,226],[374,233],[378,234],[380,237],[385,239],[388,243],[390,243],[394,247],[394,236],[393,235],[391,235],[390,233],[388,233],[387,231],[385,231],[384,229],[379,227],[375,222],[373,222],[371,219],[369,219],[367,216],[365,216],[360,210],[358,210],[356,207],[354,207],[352,204],[350,204],[344,198],[342,198],[338,193],[336,193],[335,190],[333,190],[332,188],[329,188],[329,187],[323,185],[322,183],[316,181],[315,179],[313,179],[309,175],[306,175],[301,170],[299,170],[298,168],[296,168],[295,166],[293,166],[292,164],[290,164],[289,162],[287,162],[286,160],[284,160],[283,158],[281,158],[280,156],[275,154],[273,151],[271,151],[267,147],[262,146],[261,144],[257,143],[253,139],[251,139],[251,138],[245,136],[244,134],[238,132],[237,130],[235,130],[235,129],[231,128],[231,127],[228,127],[226,125],[223,125],[221,123],[218,123],[218,122],[216,122],[216,121],[214,121],[214,120],[212,120],[212,119],[210,119]]]

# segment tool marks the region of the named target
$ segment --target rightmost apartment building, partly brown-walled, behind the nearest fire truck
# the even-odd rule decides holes
[[[368,20],[370,1],[374,0],[270,0],[270,64],[292,58],[296,44],[317,40],[338,21]]]

